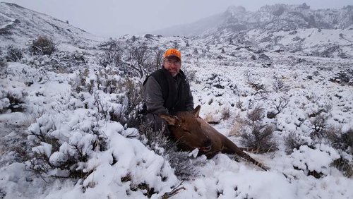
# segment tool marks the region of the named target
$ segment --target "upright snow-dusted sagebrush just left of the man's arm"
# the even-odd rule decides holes
[[[138,80],[123,79],[117,68],[78,70],[70,76],[72,95],[81,107],[96,109],[100,116],[111,121],[138,127],[138,110],[142,102]]]

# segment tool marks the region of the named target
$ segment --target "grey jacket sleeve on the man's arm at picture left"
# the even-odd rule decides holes
[[[143,97],[148,112],[154,114],[169,114],[168,109],[163,107],[162,88],[152,76],[146,80],[143,86]]]

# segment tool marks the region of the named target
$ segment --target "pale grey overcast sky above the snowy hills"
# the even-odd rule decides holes
[[[248,11],[271,4],[303,4],[311,8],[342,8],[352,0],[0,0],[68,20],[71,25],[104,37],[138,34],[192,23],[244,6]]]

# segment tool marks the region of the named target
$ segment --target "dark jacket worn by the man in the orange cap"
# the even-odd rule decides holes
[[[173,77],[162,68],[143,82],[143,97],[147,113],[176,114],[193,109],[193,96],[184,72]]]

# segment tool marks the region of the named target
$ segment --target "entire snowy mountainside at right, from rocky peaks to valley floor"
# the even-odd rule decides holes
[[[220,15],[155,33],[194,36],[207,43],[264,52],[352,59],[353,6],[312,10],[306,4],[276,4],[256,12],[231,6]]]

